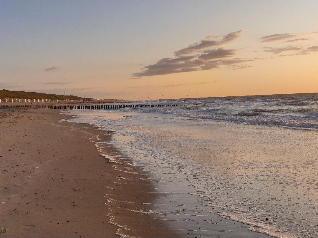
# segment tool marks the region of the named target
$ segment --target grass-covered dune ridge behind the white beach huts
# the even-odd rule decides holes
[[[82,99],[82,97],[73,95],[58,95],[52,93],[36,93],[36,92],[24,92],[24,91],[10,91],[6,89],[0,89],[0,99],[3,98],[25,98],[25,99]]]

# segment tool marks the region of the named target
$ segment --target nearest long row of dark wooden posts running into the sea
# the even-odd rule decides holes
[[[69,110],[99,110],[99,109],[121,109],[139,107],[164,107],[164,106],[189,106],[193,104],[115,104],[115,105],[0,105],[0,107],[24,107],[24,108],[49,108]]]

